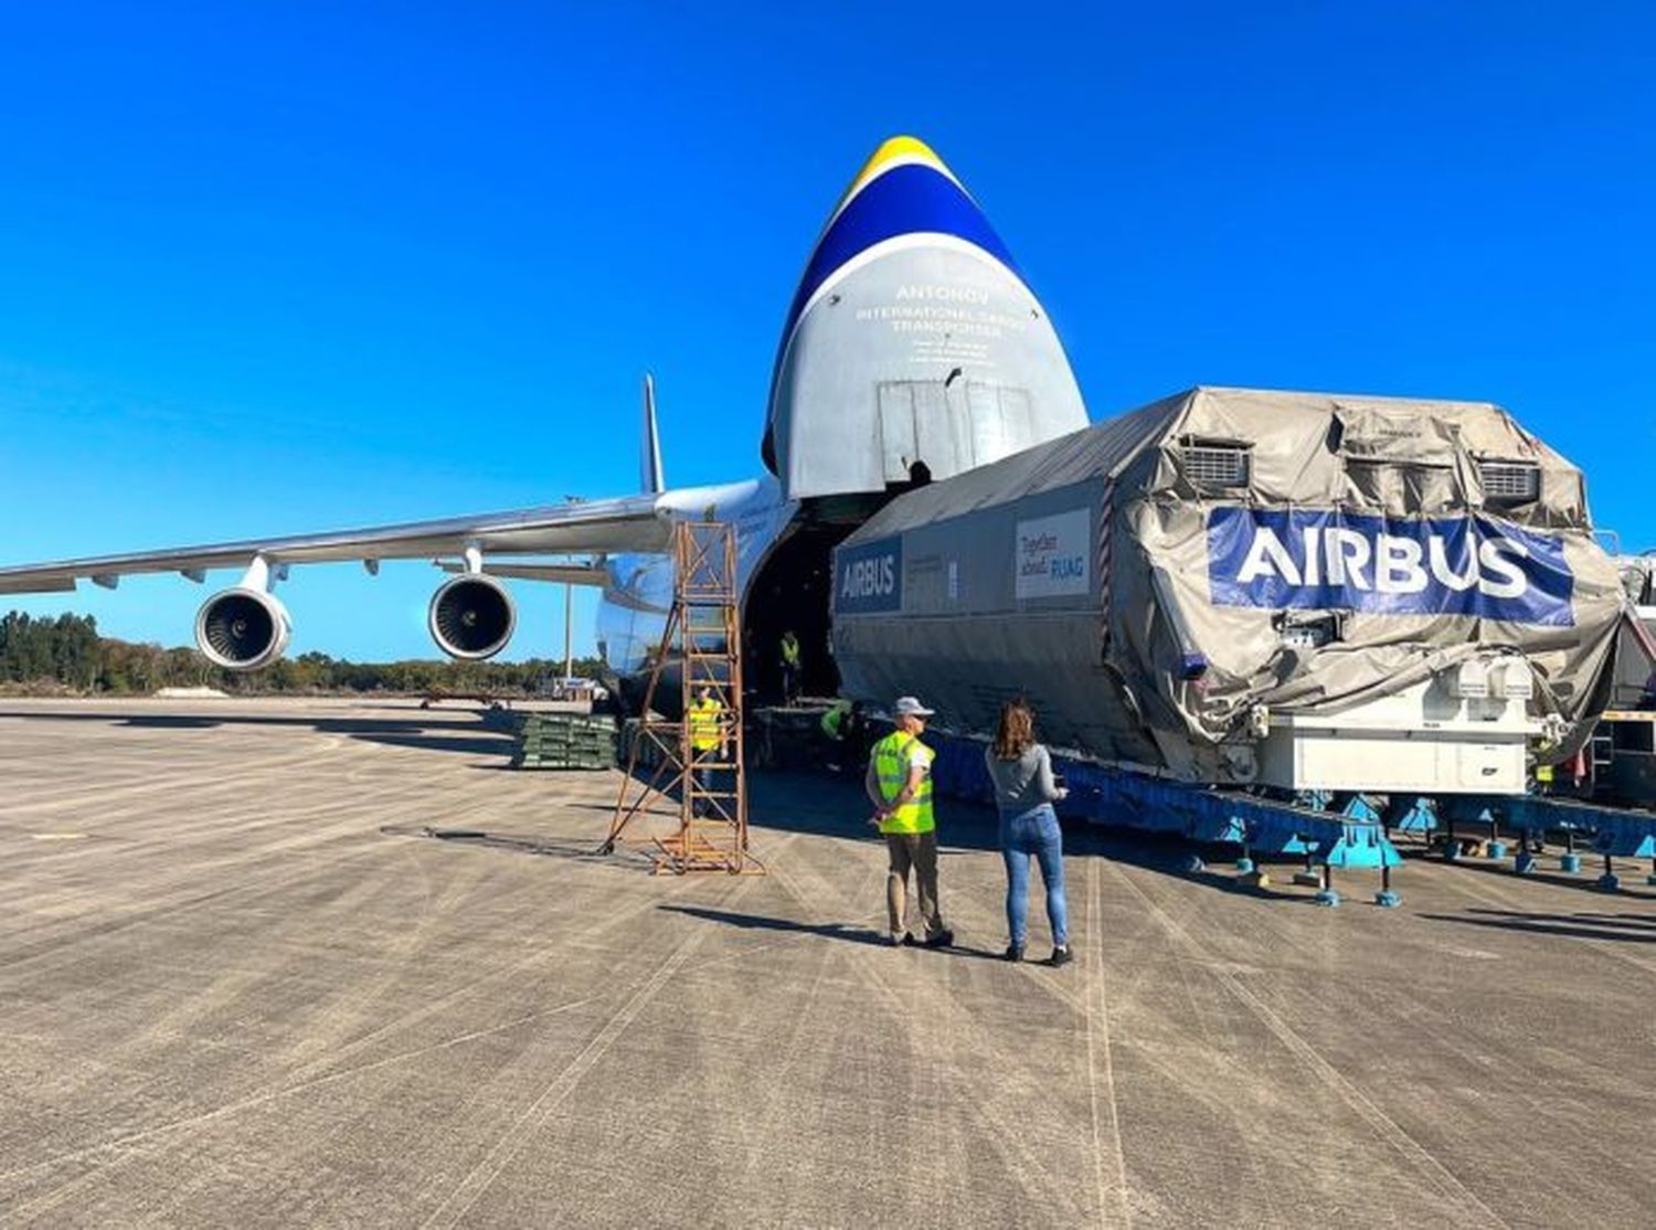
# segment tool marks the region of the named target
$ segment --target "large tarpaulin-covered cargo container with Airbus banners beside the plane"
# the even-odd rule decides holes
[[[1336,713],[1484,651],[1605,702],[1625,594],[1581,472],[1499,406],[1199,387],[946,482],[835,556],[850,695],[1224,780],[1249,710]]]

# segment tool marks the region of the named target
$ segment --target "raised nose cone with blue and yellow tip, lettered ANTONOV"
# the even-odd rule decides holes
[[[946,478],[1086,425],[1063,346],[922,141],[851,180],[782,329],[765,464],[788,498]]]

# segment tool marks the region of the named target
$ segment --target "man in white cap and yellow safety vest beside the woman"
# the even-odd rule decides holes
[[[874,803],[876,824],[886,838],[889,869],[886,872],[886,935],[891,944],[914,944],[904,917],[907,914],[909,869],[919,894],[919,912],[926,922],[926,947],[954,944],[954,932],[942,925],[937,909],[937,821],[932,818],[932,758],[937,755],[921,742],[926,718],[932,710],[914,697],[898,697],[891,707],[896,730],[874,743],[868,762],[864,788]]]

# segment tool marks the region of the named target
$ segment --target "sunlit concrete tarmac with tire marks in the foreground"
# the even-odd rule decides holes
[[[651,877],[588,854],[616,773],[508,752],[0,700],[0,1223],[1656,1225],[1643,867],[1320,909],[1070,833],[1055,970],[997,959],[982,811],[941,805],[960,950],[888,949],[856,785],[758,775],[768,876]]]

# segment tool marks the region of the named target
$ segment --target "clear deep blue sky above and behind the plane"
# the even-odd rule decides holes
[[[631,492],[646,366],[669,482],[750,475],[795,278],[894,132],[1095,419],[1492,399],[1656,546],[1648,7],[792,8],[10,7],[0,561]],[[295,652],[434,656],[436,581],[296,569]],[[0,608],[184,644],[202,593]],[[523,593],[515,656],[561,611]]]

